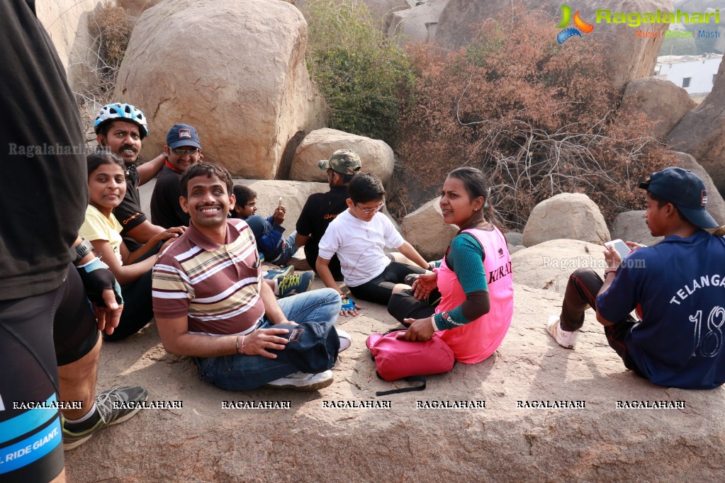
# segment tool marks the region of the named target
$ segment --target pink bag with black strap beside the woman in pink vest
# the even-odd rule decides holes
[[[405,330],[405,329],[402,329]],[[386,334],[372,334],[365,341],[375,359],[378,377],[386,381],[405,379],[423,382],[419,387],[407,387],[390,391],[377,392],[377,395],[395,392],[422,391],[426,388],[428,374],[442,374],[453,369],[455,357],[453,351],[437,335],[426,342],[410,342],[398,339],[400,330]]]

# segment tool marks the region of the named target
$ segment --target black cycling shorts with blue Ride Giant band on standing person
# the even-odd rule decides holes
[[[0,481],[50,481],[60,474],[61,414],[52,408],[57,366],[86,356],[98,337],[75,267],[51,292],[0,301]]]

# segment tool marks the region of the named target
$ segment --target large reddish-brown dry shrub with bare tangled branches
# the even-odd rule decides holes
[[[468,49],[410,54],[415,102],[402,117],[399,156],[423,188],[447,172],[479,167],[510,229],[557,193],[586,193],[608,221],[641,209],[637,183],[671,164],[646,119],[619,111],[601,47],[591,38],[558,45],[555,22],[523,14],[487,21]],[[399,211],[401,206],[398,206]]]

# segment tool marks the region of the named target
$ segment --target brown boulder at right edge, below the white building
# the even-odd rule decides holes
[[[725,195],[725,62],[711,93],[671,130],[667,143],[692,154]]]

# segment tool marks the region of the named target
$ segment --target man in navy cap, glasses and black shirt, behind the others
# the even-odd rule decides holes
[[[166,161],[151,196],[151,221],[164,228],[188,227],[188,214],[179,203],[183,172],[202,158],[199,134],[193,126],[175,124],[166,135]]]

